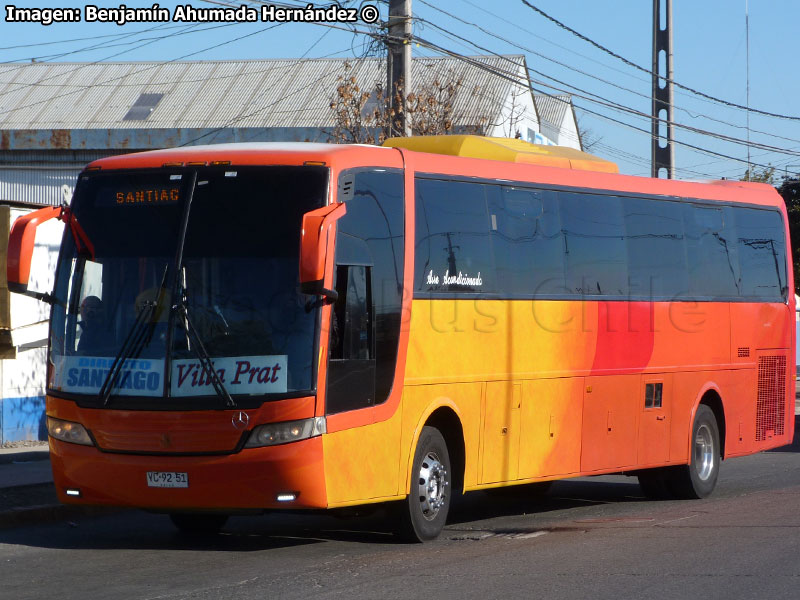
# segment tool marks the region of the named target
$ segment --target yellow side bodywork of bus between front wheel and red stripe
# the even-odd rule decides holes
[[[596,305],[576,302],[414,300],[403,448],[413,451],[423,412],[446,398],[464,427],[468,489],[577,472],[582,378],[563,375],[591,364],[596,322]]]

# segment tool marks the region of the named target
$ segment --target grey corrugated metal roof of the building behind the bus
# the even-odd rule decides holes
[[[418,88],[461,80],[458,125],[494,120],[513,84],[491,70],[524,74],[524,58],[415,58]],[[385,81],[378,58],[145,63],[0,64],[0,130],[325,128],[338,78],[364,89]],[[123,117],[143,93],[164,94],[143,120]]]

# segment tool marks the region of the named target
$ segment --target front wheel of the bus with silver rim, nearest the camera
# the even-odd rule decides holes
[[[434,427],[423,427],[411,468],[411,491],[402,505],[399,534],[410,542],[436,539],[452,496],[450,453]]]

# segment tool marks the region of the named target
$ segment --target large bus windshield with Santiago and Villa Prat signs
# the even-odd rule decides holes
[[[49,390],[91,404],[111,386],[106,400],[133,407],[205,406],[217,383],[254,401],[313,390],[298,253],[327,180],[322,167],[82,175],[72,210],[94,253],[64,236]]]

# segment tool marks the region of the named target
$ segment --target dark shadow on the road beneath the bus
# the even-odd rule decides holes
[[[542,494],[536,486],[471,492],[451,508],[448,530],[509,516],[544,517],[558,511],[598,504],[648,501],[634,478],[601,476],[556,481]],[[346,542],[403,544],[394,534],[402,503],[326,513],[275,512],[232,517],[219,534],[191,536],[178,533],[163,515],[125,511],[84,517],[72,522],[41,524],[0,531],[0,543],[64,550],[171,550],[207,552],[263,552],[298,546]],[[508,524],[498,525],[506,527]],[[473,527],[469,528],[470,531]],[[488,527],[485,531],[499,533]],[[481,528],[481,531],[484,531]]]

